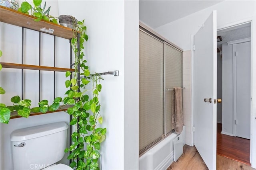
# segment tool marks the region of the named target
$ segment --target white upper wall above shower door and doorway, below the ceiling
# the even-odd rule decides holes
[[[191,49],[191,35],[200,29],[200,26],[213,10],[217,10],[217,29],[255,16],[254,0],[226,0],[214,6],[188,15],[179,20],[162,25],[155,30],[184,51]]]

